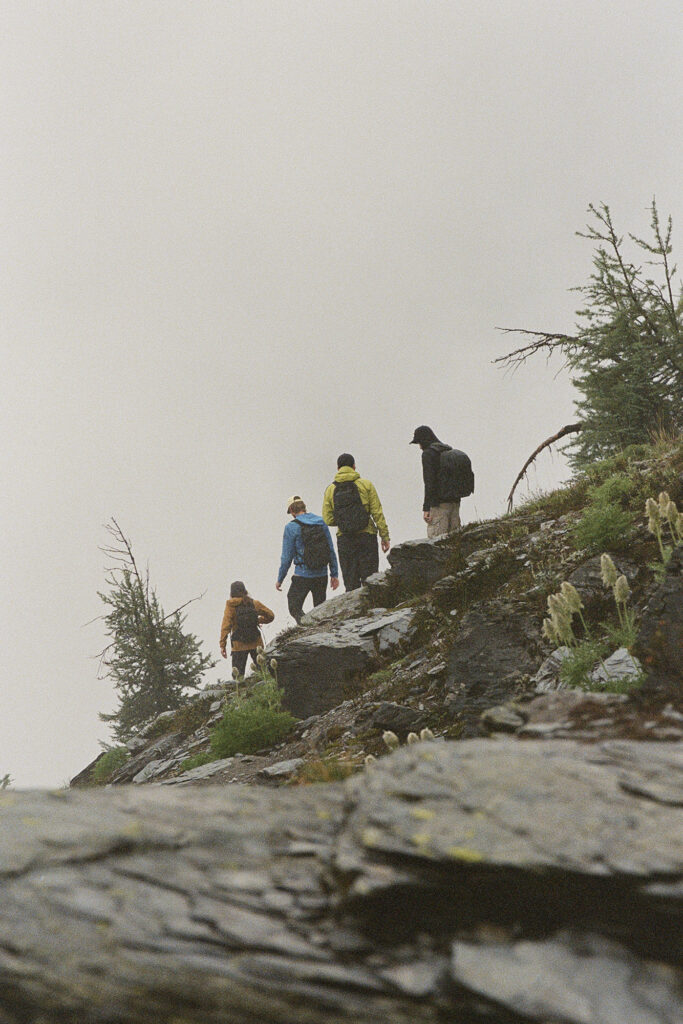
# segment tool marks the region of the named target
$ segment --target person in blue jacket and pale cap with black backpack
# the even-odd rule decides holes
[[[294,562],[294,575],[287,593],[290,614],[301,622],[303,602],[308,594],[313,598],[313,606],[322,604],[328,593],[328,565],[330,586],[339,586],[339,566],[332,534],[319,515],[306,512],[305,502],[299,495],[293,495],[287,503],[287,514],[292,521],[285,526],[283,553],[275,590],[283,589],[285,577]]]

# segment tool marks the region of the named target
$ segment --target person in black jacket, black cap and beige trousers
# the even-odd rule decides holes
[[[464,452],[438,439],[431,427],[418,427],[411,444],[422,449],[425,500],[422,516],[427,537],[440,537],[460,528],[460,499],[474,490],[474,475]]]

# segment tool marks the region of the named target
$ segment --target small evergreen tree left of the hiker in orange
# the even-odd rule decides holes
[[[108,570],[108,592],[98,596],[109,609],[103,622],[112,642],[100,664],[114,681],[119,707],[99,718],[112,726],[117,740],[125,741],[161,712],[179,708],[183,691],[197,688],[215,662],[202,653],[194,634],[183,631],[186,604],[165,614],[148,568],[144,574],[139,571],[116,519],[106,528],[114,544],[102,550],[115,564]]]

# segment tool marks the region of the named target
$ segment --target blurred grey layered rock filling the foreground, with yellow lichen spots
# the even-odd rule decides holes
[[[673,1024],[682,774],[501,739],[344,786],[0,794],[0,1019]]]

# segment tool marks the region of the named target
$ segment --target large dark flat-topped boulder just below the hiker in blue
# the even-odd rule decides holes
[[[285,707],[297,718],[308,718],[356,694],[379,658],[411,636],[415,615],[414,608],[374,608],[366,615],[328,620],[317,629],[275,640],[266,654],[276,658]]]

